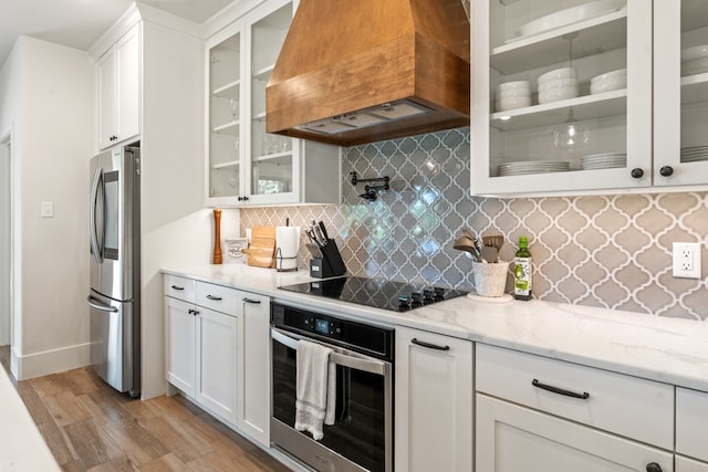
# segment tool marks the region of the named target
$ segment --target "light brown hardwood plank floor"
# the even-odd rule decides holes
[[[131,399],[90,368],[15,386],[64,471],[289,470],[183,397]]]

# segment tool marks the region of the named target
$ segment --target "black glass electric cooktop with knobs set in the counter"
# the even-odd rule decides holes
[[[406,312],[467,294],[467,292],[431,287],[425,284],[354,276],[283,285],[279,289],[393,312]]]

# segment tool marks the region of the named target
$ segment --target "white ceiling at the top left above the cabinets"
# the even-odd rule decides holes
[[[195,23],[204,23],[239,0],[142,0]],[[0,0],[0,66],[19,35],[87,51],[134,0]]]

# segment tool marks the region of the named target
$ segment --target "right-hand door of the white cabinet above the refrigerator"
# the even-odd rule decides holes
[[[118,140],[139,133],[140,104],[140,43],[139,24],[128,31],[116,44],[116,135]]]

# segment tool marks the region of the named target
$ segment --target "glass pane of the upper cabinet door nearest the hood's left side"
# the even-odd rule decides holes
[[[251,25],[251,196],[293,191],[293,139],[266,133],[266,86],[290,28],[292,9],[292,2],[287,3]]]

